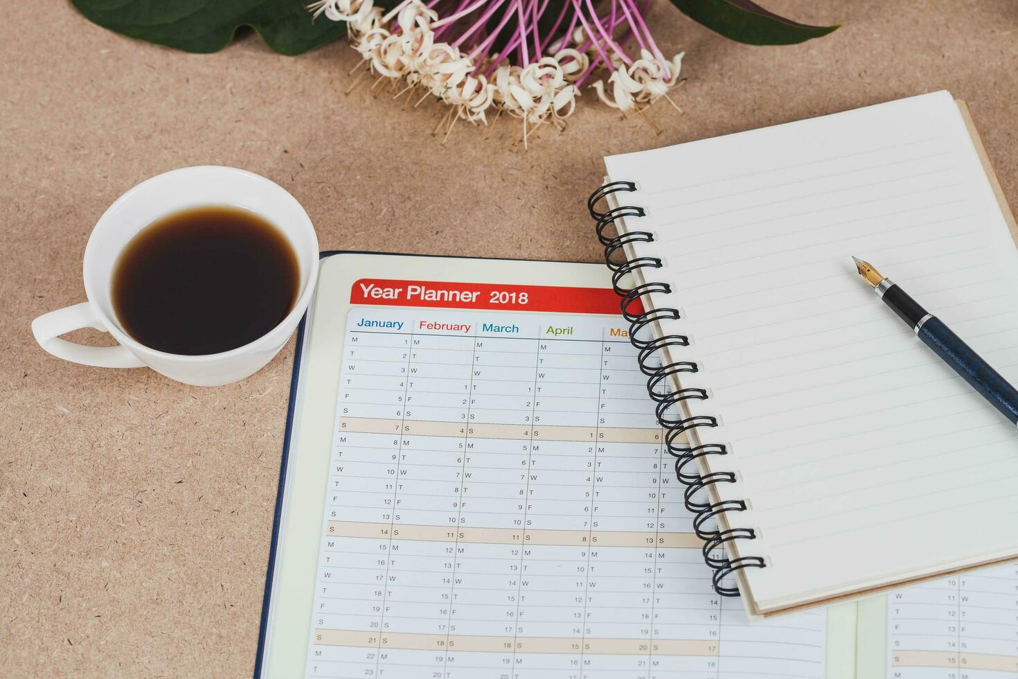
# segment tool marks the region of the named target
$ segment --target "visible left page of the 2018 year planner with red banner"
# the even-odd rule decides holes
[[[628,333],[601,264],[325,256],[256,676],[850,677],[714,590]]]

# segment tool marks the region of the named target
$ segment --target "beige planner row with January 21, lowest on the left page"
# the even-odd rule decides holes
[[[411,634],[317,629],[315,643],[323,646],[399,648],[461,653],[580,654],[589,656],[717,656],[718,642],[705,639],[579,639],[570,637]]]

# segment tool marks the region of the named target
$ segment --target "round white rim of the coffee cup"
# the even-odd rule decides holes
[[[280,321],[276,326],[274,326],[270,331],[268,331],[261,337],[258,337],[257,339],[253,339],[250,342],[242,344],[238,347],[234,347],[226,351],[220,351],[219,353],[204,353],[204,354],[170,353],[168,351],[160,351],[159,349],[154,349],[146,344],[143,344],[142,342],[138,342],[129,334],[127,334],[125,331],[121,330],[120,324],[116,319],[111,319],[106,314],[102,304],[99,304],[97,302],[97,292],[99,291],[94,289],[95,288],[93,284],[94,282],[92,277],[90,276],[90,265],[94,263],[94,258],[96,257],[96,251],[97,251],[96,248],[98,247],[98,245],[96,244],[97,233],[99,233],[102,230],[104,224],[106,224],[109,221],[109,219],[111,219],[110,216],[113,213],[115,213],[120,206],[122,206],[124,203],[128,201],[134,200],[138,193],[142,193],[146,190],[151,190],[153,185],[155,184],[161,184],[169,179],[172,179],[175,176],[180,176],[182,174],[193,174],[195,172],[211,172],[212,174],[220,172],[224,174],[240,174],[249,177],[257,182],[265,184],[271,190],[280,192],[281,200],[290,202],[292,206],[296,208],[300,226],[304,228],[310,235],[312,251],[309,253],[297,251],[296,245],[291,242],[291,245],[293,246],[294,252],[297,257],[297,266],[298,267],[304,266],[303,260],[305,257],[307,257],[310,260],[310,262],[309,265],[307,266],[307,279],[303,283],[300,294],[297,295],[297,298],[293,302],[293,306],[290,309],[289,314],[287,314],[282,321]],[[210,205],[210,204],[203,204],[203,205]],[[223,205],[227,204],[224,202]],[[177,210],[185,210],[188,207],[191,206],[181,205],[179,208],[176,208],[174,211],[168,212],[166,214],[172,214],[172,212],[175,212]],[[256,212],[256,214],[258,214],[258,211],[252,211],[252,212]],[[137,226],[136,229],[134,229],[128,240],[125,241],[121,245],[120,249],[117,251],[116,254],[117,258],[119,258],[120,252],[123,251],[123,246],[126,245],[127,242],[129,242],[130,238],[133,238],[142,229],[151,224],[152,221],[154,220],[150,220],[145,224],[140,224]],[[272,223],[271,220],[270,223]],[[301,206],[300,203],[295,197],[293,197],[293,195],[289,191],[287,191],[285,188],[283,188],[276,182],[272,181],[271,179],[264,177],[260,174],[257,174],[254,172],[241,170],[240,168],[235,168],[235,167],[228,167],[223,165],[194,165],[190,167],[182,167],[182,168],[177,168],[175,170],[169,170],[167,172],[163,172],[161,174],[157,174],[153,177],[150,177],[145,181],[135,184],[131,188],[127,189],[116,201],[114,201],[110,205],[110,207],[107,208],[105,212],[103,212],[102,216],[96,222],[96,226],[93,228],[92,233],[89,236],[89,241],[84,246],[84,257],[82,258],[81,270],[82,270],[81,271],[82,277],[84,280],[86,297],[89,299],[89,303],[91,304],[93,312],[95,313],[96,317],[100,319],[103,325],[106,326],[105,330],[108,331],[110,335],[112,335],[113,338],[120,344],[128,347],[129,349],[131,349],[131,351],[140,353],[146,356],[171,359],[181,362],[195,363],[208,360],[219,360],[222,358],[229,358],[231,356],[247,353],[251,350],[252,347],[259,344],[266,343],[275,335],[278,334],[285,334],[287,336],[289,335],[290,330],[287,330],[287,328],[290,326],[290,324],[293,323],[294,317],[303,316],[304,310],[307,308],[307,305],[310,302],[310,297],[315,292],[315,282],[318,278],[318,270],[319,270],[318,234],[315,232],[315,227],[312,224],[310,217],[307,216],[307,213],[303,209],[303,206]],[[111,287],[111,283],[109,280],[106,281],[106,285],[107,288]],[[110,290],[107,290],[105,294],[110,295]]]

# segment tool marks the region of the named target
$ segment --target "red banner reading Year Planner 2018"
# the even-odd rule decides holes
[[[482,308],[619,316],[620,297],[611,288],[499,285],[362,278],[350,290],[351,304]],[[636,304],[630,307],[638,313]]]

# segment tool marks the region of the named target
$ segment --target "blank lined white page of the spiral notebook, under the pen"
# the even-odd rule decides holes
[[[871,262],[1018,383],[1018,250],[946,93],[607,159],[720,415],[767,612],[1018,556],[1015,428],[857,275]],[[690,379],[686,379],[686,378]],[[744,592],[745,593],[745,592]]]

